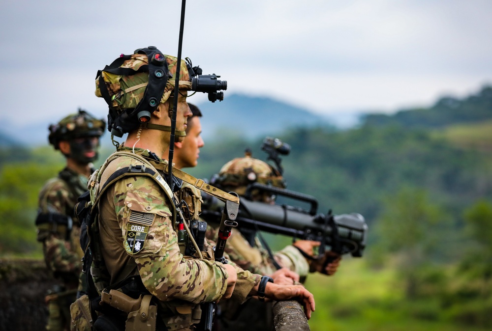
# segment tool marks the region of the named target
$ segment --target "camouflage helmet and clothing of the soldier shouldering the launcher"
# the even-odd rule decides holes
[[[246,194],[248,184],[258,182],[285,188],[285,182],[277,170],[267,163],[254,159],[250,154],[244,158],[236,158],[225,164],[212,184],[226,192],[236,192],[239,195]],[[267,200],[268,196],[262,196],[259,192],[252,191],[251,197],[255,200]],[[214,225],[214,224],[212,224]],[[217,238],[217,227],[209,226],[206,237],[211,240]],[[268,251],[263,248],[258,238],[251,246],[246,238],[237,229],[233,229],[227,240],[225,252],[238,266],[252,273],[260,275],[272,275],[275,266]],[[309,273],[309,264],[301,252],[292,245],[286,246],[273,253],[273,258],[280,267],[288,268],[296,272],[301,279]],[[220,331],[249,331],[249,330],[274,330],[272,303],[249,301],[238,305],[232,302],[221,302],[218,314]]]

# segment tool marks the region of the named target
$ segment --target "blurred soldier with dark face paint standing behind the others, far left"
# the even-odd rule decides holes
[[[66,166],[39,193],[36,218],[37,240],[43,243],[46,265],[59,280],[46,299],[47,330],[70,327],[69,307],[76,299],[83,256],[79,244],[80,224],[74,218],[73,208],[79,195],[87,190],[104,126],[104,120],[79,109],[49,127],[49,142],[65,156]]]

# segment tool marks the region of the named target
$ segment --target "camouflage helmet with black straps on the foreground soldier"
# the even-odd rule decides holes
[[[163,55],[154,46],[137,49],[97,72],[95,95],[109,106],[108,130],[122,137],[150,120],[151,113],[174,91],[178,59]],[[191,89],[186,62],[181,61],[180,89]],[[179,133],[177,132],[177,135]],[[184,135],[184,134],[182,134]]]

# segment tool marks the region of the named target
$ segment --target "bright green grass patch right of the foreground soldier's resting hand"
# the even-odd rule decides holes
[[[311,274],[306,287],[316,311],[311,331],[485,331],[446,319],[437,298],[408,301],[391,269],[367,267],[364,259],[344,258],[335,276]]]

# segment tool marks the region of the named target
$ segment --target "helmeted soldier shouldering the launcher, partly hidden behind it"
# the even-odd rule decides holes
[[[253,158],[249,149],[246,149],[245,157],[227,162],[211,179],[212,185],[226,192],[236,192],[240,196],[247,196],[252,201],[275,203],[276,197],[272,193],[255,189],[248,190],[248,186],[253,183],[282,189],[287,186],[277,168]],[[217,224],[210,225],[217,226]],[[215,240],[216,236],[216,229],[209,228],[207,238]],[[313,249],[319,246],[320,242],[298,240],[280,251],[272,252],[261,234],[253,234],[253,237],[248,239],[253,242],[249,242],[239,230],[233,229],[225,249],[231,260],[241,268],[261,275],[275,275],[279,270],[286,268],[294,272],[295,276],[282,276],[277,281],[285,284],[304,281],[309,272],[317,271],[333,275],[338,269],[341,258],[338,254],[328,252],[327,255],[333,258],[333,262],[324,268],[324,259],[318,261],[305,257],[313,256]],[[225,302],[221,303],[220,311],[222,312],[219,317],[221,331],[242,331],[254,328],[273,330],[272,306],[265,306],[265,303],[248,302],[243,306],[238,306]],[[255,321],[251,321],[253,315]]]

